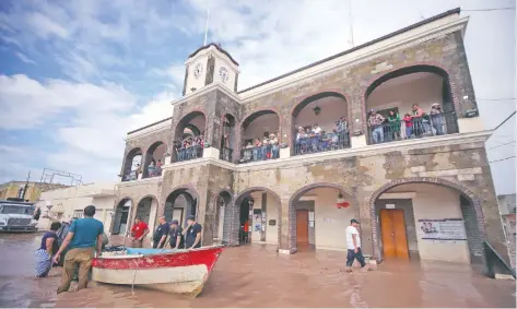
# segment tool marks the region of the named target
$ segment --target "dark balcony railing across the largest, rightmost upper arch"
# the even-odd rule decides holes
[[[410,121],[385,121],[380,126],[368,127],[369,144],[457,133],[458,124],[456,121],[454,111],[425,115],[412,118]]]

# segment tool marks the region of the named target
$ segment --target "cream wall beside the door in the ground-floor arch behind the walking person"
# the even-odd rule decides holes
[[[346,250],[345,229],[354,217],[350,197],[344,199],[351,204],[348,209],[338,209],[336,202],[339,191],[333,188],[317,188],[305,195],[315,197],[315,238],[316,249]]]

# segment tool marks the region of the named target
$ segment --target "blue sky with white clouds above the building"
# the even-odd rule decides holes
[[[125,133],[171,116],[184,61],[209,40],[240,63],[239,88],[446,10],[514,7],[453,0],[0,1],[0,182],[44,167],[114,180]],[[465,11],[466,46],[486,129],[515,110],[515,10]],[[515,155],[515,118],[487,143]],[[498,193],[515,192],[515,158],[492,164]]]

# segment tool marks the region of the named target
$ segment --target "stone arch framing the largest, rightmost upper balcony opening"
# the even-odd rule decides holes
[[[444,79],[444,84],[447,86],[447,95],[450,97],[450,105],[447,105],[447,108],[455,114],[456,111],[460,110],[459,108],[459,97],[458,97],[458,88],[455,83],[450,82],[450,73],[444,66],[433,61],[421,61],[421,62],[413,62],[406,66],[399,66],[397,68],[392,68],[387,71],[383,71],[372,76],[368,81],[367,85],[364,87],[363,96],[362,96],[362,115],[363,115],[363,130],[367,132],[367,98],[368,96],[378,87],[380,84],[396,78],[400,78],[402,75],[411,74],[411,73],[419,73],[419,72],[427,72],[434,73],[439,75]],[[445,106],[444,106],[445,110]],[[454,131],[458,130],[458,124],[455,123],[456,128],[453,128]]]

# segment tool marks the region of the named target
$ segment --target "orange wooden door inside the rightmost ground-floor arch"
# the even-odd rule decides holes
[[[385,258],[409,258],[402,210],[380,210],[380,233]]]

